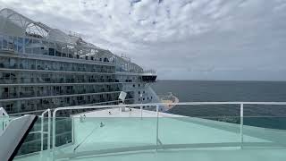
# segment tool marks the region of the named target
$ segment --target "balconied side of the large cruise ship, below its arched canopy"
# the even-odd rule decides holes
[[[70,44],[0,33],[0,106],[11,115],[41,114],[47,108],[61,106],[118,104],[121,91],[128,93],[125,104],[155,100],[137,64],[101,49],[91,49],[97,51],[95,55],[82,56],[82,51],[74,48]],[[68,116],[85,111],[58,113],[67,117],[57,120],[60,125],[56,126],[56,140],[62,140],[56,142],[57,146],[71,142]],[[38,131],[38,123],[33,131]],[[29,134],[19,154],[39,150],[40,134],[35,132]]]

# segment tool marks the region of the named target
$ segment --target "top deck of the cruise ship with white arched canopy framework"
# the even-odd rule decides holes
[[[0,11],[0,52],[12,57],[116,66],[116,72],[143,69],[122,56],[88,43],[80,34],[66,33],[4,8]],[[14,54],[14,55],[13,55]],[[1,63],[1,62],[0,62]],[[0,66],[0,68],[3,68]]]

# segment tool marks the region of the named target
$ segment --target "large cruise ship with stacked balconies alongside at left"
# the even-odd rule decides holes
[[[40,114],[59,106],[156,102],[156,73],[78,34],[0,11],[0,106],[8,114]],[[77,110],[67,112],[77,113]]]

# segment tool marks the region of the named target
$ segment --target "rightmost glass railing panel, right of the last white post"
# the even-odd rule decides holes
[[[244,138],[244,147],[285,147],[286,108],[284,105],[244,105],[244,135],[257,136],[265,140],[263,145],[254,144]]]

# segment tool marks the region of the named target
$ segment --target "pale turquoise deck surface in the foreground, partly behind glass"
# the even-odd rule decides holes
[[[244,145],[241,149],[240,124],[189,117],[159,118],[160,148],[156,151],[156,121],[156,118],[86,118],[83,122],[79,118],[74,119],[74,142],[56,148],[55,157],[80,161],[286,160],[285,131],[244,126]],[[104,126],[100,127],[100,123]],[[264,145],[263,148],[261,145]],[[101,155],[95,156],[101,152]],[[44,151],[42,157],[38,154],[16,160],[51,159],[46,155]]]

